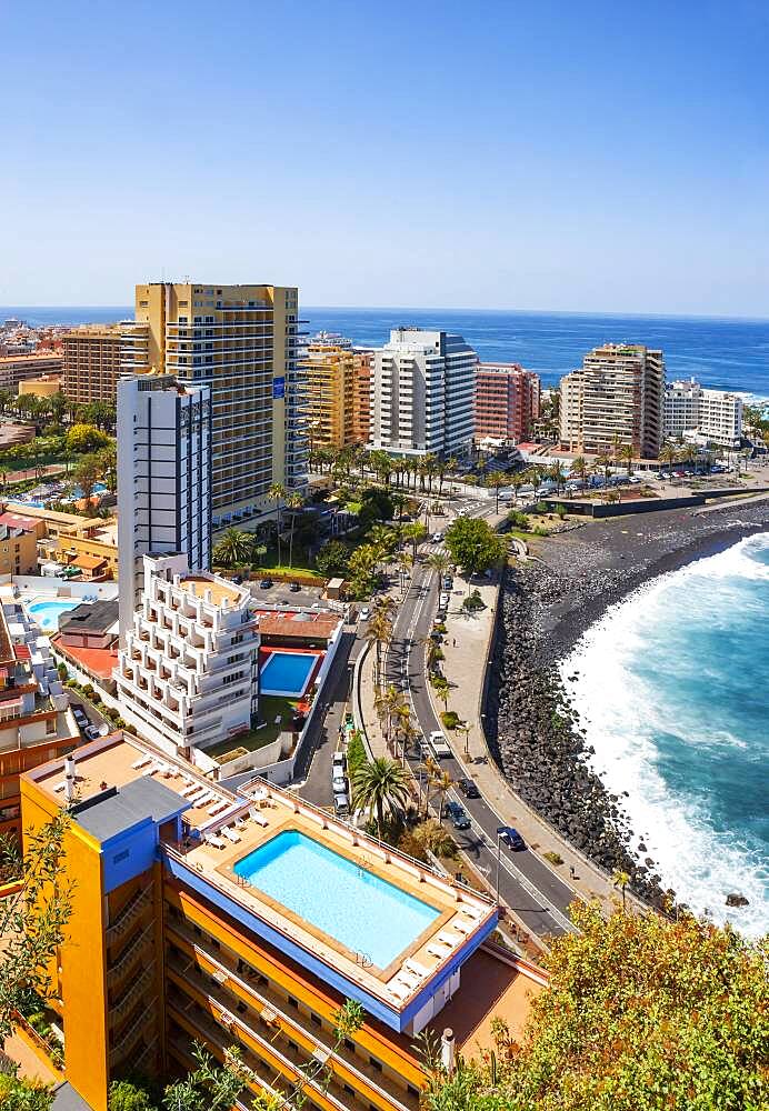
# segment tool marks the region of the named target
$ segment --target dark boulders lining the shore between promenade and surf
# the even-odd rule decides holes
[[[646,845],[622,800],[588,767],[591,749],[556,667],[549,613],[573,587],[541,565],[508,572],[489,678],[489,742],[525,802],[606,871],[627,872],[632,890],[660,907],[673,892],[661,889],[651,858],[637,855]]]

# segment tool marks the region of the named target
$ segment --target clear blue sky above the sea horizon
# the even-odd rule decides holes
[[[769,4],[7,4],[0,303],[769,316]]]

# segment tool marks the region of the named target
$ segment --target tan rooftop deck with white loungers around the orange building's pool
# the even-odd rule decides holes
[[[120,731],[84,745],[73,757],[77,797],[82,800],[100,793],[103,783],[120,789],[148,774],[182,798],[193,787],[206,789],[204,801],[188,803],[182,819],[186,837],[181,843],[164,847],[171,870],[183,870],[188,881],[203,881],[212,892],[227,897],[252,920],[261,922],[273,937],[303,951],[308,960],[320,961],[388,1011],[405,1011],[436,978],[468,958],[496,924],[497,908],[487,899],[262,780],[254,779],[234,794],[203,778],[186,761],[173,760]],[[29,775],[39,788],[62,800],[61,761],[34,769]],[[223,827],[228,828],[229,837],[222,832]],[[238,861],[283,830],[304,833],[409,892],[432,907],[438,918],[387,968],[374,967],[363,953],[347,949],[236,874],[233,868]],[[207,841],[207,837],[214,840]],[[257,921],[254,929],[259,929]],[[406,961],[416,972],[406,969]]]

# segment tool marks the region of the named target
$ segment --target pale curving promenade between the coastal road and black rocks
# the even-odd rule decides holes
[[[551,827],[543,821],[517,794],[501,774],[493,757],[489,752],[481,727],[481,695],[483,677],[487,667],[487,655],[490,647],[491,631],[495,621],[495,610],[498,602],[497,583],[485,582],[478,589],[486,609],[472,615],[460,609],[462,599],[467,595],[468,583],[459,574],[455,577],[455,590],[462,590],[462,598],[457,593],[451,595],[446,619],[447,635],[442,644],[446,659],[441,668],[443,674],[452,684],[449,697],[449,709],[471,724],[467,735],[469,760],[465,754],[465,734],[447,731],[457,761],[462,765],[469,779],[477,784],[489,805],[493,807],[502,822],[515,825],[520,831],[527,844],[537,851],[557,852],[563,860],[562,864],[550,865],[553,872],[576,892],[585,898],[598,898],[607,910],[612,908],[612,899],[617,899],[617,889],[611,880],[603,874],[587,858],[580,855]],[[442,710],[442,704],[430,691],[436,713]],[[477,759],[483,763],[475,763]],[[549,862],[548,862],[549,863]],[[575,878],[569,869],[573,868]]]

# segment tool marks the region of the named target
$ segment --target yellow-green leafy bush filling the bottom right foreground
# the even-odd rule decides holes
[[[522,1044],[447,1078],[426,1111],[760,1111],[769,1083],[767,939],[685,917],[572,908]]]

